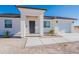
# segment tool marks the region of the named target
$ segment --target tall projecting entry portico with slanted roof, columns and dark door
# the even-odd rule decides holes
[[[44,12],[46,9],[33,9],[19,6],[18,9],[21,11],[21,37],[43,36]]]

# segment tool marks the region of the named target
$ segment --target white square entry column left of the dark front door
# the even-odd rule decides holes
[[[25,38],[26,37],[26,17],[25,15],[21,15],[21,37]]]

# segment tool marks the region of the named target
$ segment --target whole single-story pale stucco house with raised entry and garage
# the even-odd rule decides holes
[[[75,18],[44,16],[46,9],[17,6],[20,14],[0,15],[0,35],[9,31],[12,36],[44,36],[52,29],[71,33]]]

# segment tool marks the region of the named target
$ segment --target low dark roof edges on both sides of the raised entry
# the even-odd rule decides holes
[[[3,13],[0,14],[0,17],[20,17],[20,14],[14,13]],[[69,17],[60,17],[60,16],[44,16],[45,19],[69,19],[69,20],[77,20],[76,18],[69,18]]]

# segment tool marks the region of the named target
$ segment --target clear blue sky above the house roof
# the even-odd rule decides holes
[[[79,5],[25,5],[32,8],[45,8],[46,16],[61,16],[69,18],[77,18],[78,20],[74,25],[79,25]],[[0,5],[0,14],[3,13],[16,13],[20,14],[14,5]]]

